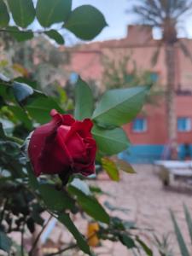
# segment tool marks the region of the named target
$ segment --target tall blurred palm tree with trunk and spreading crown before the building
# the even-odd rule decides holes
[[[177,117],[175,111],[176,47],[180,47],[185,55],[191,56],[187,47],[177,38],[177,29],[178,26],[182,25],[183,17],[186,18],[186,15],[189,15],[191,9],[191,0],[137,0],[131,8],[131,12],[136,14],[142,20],[143,24],[158,27],[162,31],[162,39],[154,54],[154,59],[158,59],[160,47],[164,46],[167,70],[167,132],[172,148],[172,159],[175,157],[174,153],[177,152]]]

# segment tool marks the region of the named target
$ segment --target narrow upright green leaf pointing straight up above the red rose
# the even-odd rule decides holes
[[[75,86],[75,119],[90,118],[93,113],[94,101],[88,84],[79,78]]]

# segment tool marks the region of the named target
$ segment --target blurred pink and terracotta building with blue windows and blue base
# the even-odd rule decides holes
[[[160,48],[158,61],[153,66],[152,58],[160,47],[161,41],[154,40],[150,26],[129,26],[126,38],[98,43],[83,44],[70,50],[71,61],[68,69],[79,73],[85,80],[95,80],[103,89],[103,59],[108,56],[118,60],[131,55],[138,70],[149,70],[159,80],[162,88],[166,86],[165,49]],[[181,38],[179,44],[185,44],[192,52],[192,39]],[[192,61],[176,47],[176,112],[178,156],[184,158],[185,143],[192,144]],[[131,73],[127,67],[127,73]],[[165,101],[157,106],[147,105],[147,115],[139,115],[131,124],[124,126],[132,146],[123,157],[130,161],[152,161],[168,157],[168,136],[166,131]],[[191,148],[192,154],[192,148]]]

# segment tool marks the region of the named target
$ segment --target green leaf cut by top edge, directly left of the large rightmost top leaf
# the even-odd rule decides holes
[[[72,0],[38,0],[37,18],[41,26],[67,20],[72,10]]]

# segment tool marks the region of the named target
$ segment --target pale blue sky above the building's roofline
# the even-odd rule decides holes
[[[98,40],[108,40],[112,38],[125,38],[127,25],[136,21],[136,17],[128,15],[125,10],[130,8],[132,0],[73,0],[73,9],[81,4],[91,4],[102,11],[108,27],[95,38]],[[192,38],[192,15],[184,22],[179,35]],[[154,37],[159,38],[159,32],[154,31]]]

